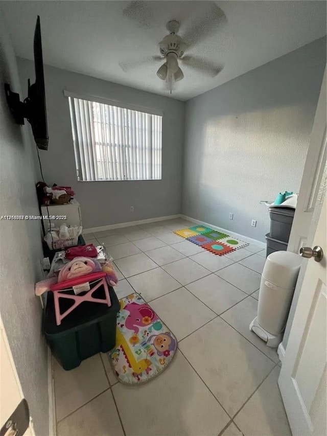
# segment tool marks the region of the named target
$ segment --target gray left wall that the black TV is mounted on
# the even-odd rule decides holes
[[[0,209],[1,215],[39,215],[27,126],[9,112],[3,84],[20,93],[15,53],[0,6]],[[20,94],[21,95],[21,94]],[[0,221],[0,312],[22,391],[37,435],[49,435],[48,354],[42,309],[34,284],[42,277],[39,221]],[[4,400],[4,399],[2,399]],[[3,424],[3,423],[2,423]]]

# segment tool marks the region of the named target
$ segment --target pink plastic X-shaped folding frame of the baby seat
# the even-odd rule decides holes
[[[62,319],[71,313],[77,306],[79,306],[84,301],[92,302],[92,303],[103,303],[107,306],[111,306],[110,296],[107,281],[105,279],[105,272],[94,272],[91,274],[87,274],[87,276],[78,277],[76,279],[67,280],[65,282],[56,283],[51,286],[51,291],[54,295],[54,304],[55,304],[55,312],[56,312],[56,323],[57,326],[60,326]],[[82,295],[65,293],[65,292],[78,292],[78,287],[85,284],[86,289],[82,291]],[[89,286],[88,286],[89,285]],[[92,297],[92,293],[94,293],[101,285],[104,287],[105,299],[94,298]],[[74,286],[74,288],[73,288]],[[82,287],[83,288],[83,287]],[[60,299],[71,299],[74,300],[73,306],[69,307],[62,314],[60,313]]]

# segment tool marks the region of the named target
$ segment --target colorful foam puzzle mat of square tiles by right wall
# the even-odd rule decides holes
[[[231,251],[249,245],[248,242],[242,241],[235,236],[229,236],[204,225],[193,225],[182,230],[176,230],[174,233],[218,256],[226,255]]]

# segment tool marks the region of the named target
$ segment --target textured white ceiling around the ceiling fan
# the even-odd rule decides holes
[[[185,78],[176,84],[173,98],[188,100],[326,34],[325,1],[215,3],[227,22],[185,54],[223,64],[223,71],[212,78],[182,65]],[[192,20],[209,11],[212,2],[144,2],[139,16],[142,24],[123,13],[130,4],[2,1],[1,7],[18,56],[33,59],[33,33],[40,15],[44,63],[170,97],[155,74],[160,62],[139,65],[128,73],[119,62],[158,55],[167,21],[179,20],[183,36]]]

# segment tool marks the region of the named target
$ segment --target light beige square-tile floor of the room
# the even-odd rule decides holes
[[[106,354],[54,361],[58,436],[290,436],[275,350],[249,331],[265,250],[219,257],[175,235],[174,219],[87,234],[115,259],[119,298],[139,292],[178,338],[170,368],[119,383]],[[189,244],[189,245],[188,245]]]

